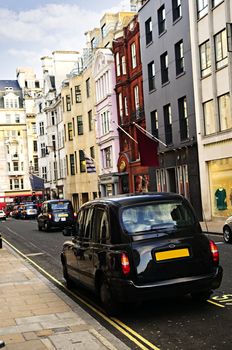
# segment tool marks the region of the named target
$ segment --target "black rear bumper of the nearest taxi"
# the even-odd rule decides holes
[[[219,266],[213,274],[159,281],[145,285],[137,285],[131,280],[112,279],[110,287],[113,297],[118,301],[141,301],[214,290],[219,288],[222,275],[223,269]]]

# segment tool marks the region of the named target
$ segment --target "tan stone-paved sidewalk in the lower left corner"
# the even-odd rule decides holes
[[[4,350],[129,350],[4,243],[0,340]]]

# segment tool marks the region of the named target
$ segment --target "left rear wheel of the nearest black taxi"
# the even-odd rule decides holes
[[[119,304],[112,298],[110,286],[106,279],[103,279],[100,285],[100,300],[108,315],[114,316],[118,313]]]

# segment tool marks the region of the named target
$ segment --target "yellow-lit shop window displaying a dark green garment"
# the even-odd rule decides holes
[[[212,216],[232,215],[232,158],[209,162]]]

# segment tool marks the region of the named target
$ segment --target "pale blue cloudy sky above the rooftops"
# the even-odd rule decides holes
[[[31,67],[42,77],[41,57],[53,51],[81,52],[87,30],[105,12],[129,10],[129,0],[0,0],[0,80],[15,80]]]

